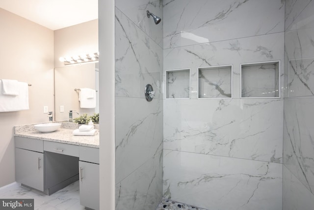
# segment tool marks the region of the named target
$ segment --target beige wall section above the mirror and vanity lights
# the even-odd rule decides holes
[[[98,52],[98,20],[54,31],[54,67],[64,66],[60,57]]]

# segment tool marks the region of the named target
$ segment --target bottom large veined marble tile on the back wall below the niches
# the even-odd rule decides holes
[[[164,197],[211,210],[282,210],[282,164],[164,150]]]

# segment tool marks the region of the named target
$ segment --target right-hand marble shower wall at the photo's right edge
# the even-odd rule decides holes
[[[285,210],[314,207],[314,1],[286,0]]]

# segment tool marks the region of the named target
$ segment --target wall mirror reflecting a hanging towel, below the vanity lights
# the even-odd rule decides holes
[[[98,62],[81,63],[54,68],[54,120],[69,121],[69,111],[73,119],[83,114],[99,113],[99,65]],[[81,88],[96,90],[96,107],[80,108],[78,93]]]

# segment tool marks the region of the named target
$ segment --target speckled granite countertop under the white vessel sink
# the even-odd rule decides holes
[[[99,133],[95,136],[74,136],[72,132],[74,129],[78,128],[78,124],[72,124],[73,125],[69,125],[62,122],[61,128],[51,133],[41,133],[35,130],[34,124],[15,126],[14,136],[99,148]],[[72,129],[66,129],[64,127]]]

